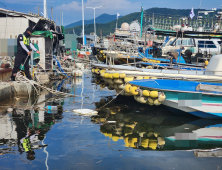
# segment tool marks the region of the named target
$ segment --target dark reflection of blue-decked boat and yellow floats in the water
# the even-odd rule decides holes
[[[104,104],[106,100],[101,102]],[[100,103],[100,102],[99,102]],[[129,103],[129,101],[128,101]],[[97,103],[96,106],[99,104]],[[147,106],[149,107],[149,106]],[[123,140],[126,147],[142,150],[189,150],[214,149],[222,147],[219,140],[207,137],[221,135],[221,130],[211,127],[221,124],[221,120],[205,120],[197,117],[180,117],[170,114],[163,108],[153,107],[141,110],[141,106],[124,101],[118,104],[118,99],[108,108],[99,111],[99,116],[92,117],[92,121],[102,124],[100,131],[112,141]],[[138,111],[138,112],[137,112]],[[158,113],[158,114],[157,114]],[[109,123],[112,122],[112,123]],[[208,131],[210,129],[210,131]],[[205,132],[205,133],[204,133]],[[196,140],[183,140],[175,142],[176,134],[196,134]],[[204,138],[204,140],[202,140]],[[188,143],[188,145],[187,145]]]

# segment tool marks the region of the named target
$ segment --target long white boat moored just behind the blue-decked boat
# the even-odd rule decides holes
[[[206,81],[206,82],[222,82],[222,70],[220,65],[222,64],[222,55],[215,55],[211,58],[206,69],[184,67],[184,69],[144,69],[137,68],[129,65],[106,65],[106,64],[92,64],[93,68],[98,69],[97,74],[100,71],[108,74],[124,74],[124,77],[149,77],[149,78],[161,78],[161,79],[182,79],[193,81]],[[93,69],[94,70],[94,69]],[[104,74],[101,74],[104,77]],[[106,77],[105,77],[106,78]],[[112,78],[112,77],[111,77]],[[132,81],[132,80],[131,80]]]

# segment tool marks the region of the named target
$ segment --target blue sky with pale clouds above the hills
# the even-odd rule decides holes
[[[60,24],[60,11],[63,12],[63,25],[79,21],[82,19],[82,0],[46,0],[47,14],[51,18],[51,7],[53,7],[53,20]],[[121,16],[132,12],[140,12],[143,4],[144,10],[152,7],[174,8],[174,9],[209,9],[221,8],[222,2],[219,0],[83,0],[85,7],[105,7],[96,9],[96,17],[106,13]],[[200,5],[201,4],[201,5]],[[38,13],[43,12],[43,0],[0,0],[0,8],[14,10],[18,12]],[[5,7],[6,6],[6,7]],[[93,19],[93,9],[85,8],[85,19]]]

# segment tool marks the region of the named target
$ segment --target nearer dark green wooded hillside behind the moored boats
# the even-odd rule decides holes
[[[204,10],[204,9],[200,9]],[[170,8],[150,8],[144,11],[144,15],[151,15],[152,13],[155,14],[162,14],[162,15],[178,15],[178,16],[185,16],[188,17],[190,14],[191,9],[170,9]],[[197,15],[198,9],[194,9],[194,13]],[[138,20],[140,22],[140,12],[134,12],[125,16],[122,16],[118,20],[118,28],[121,26],[122,23],[127,22],[131,23],[132,21]],[[145,17],[144,17],[145,20]],[[96,24],[96,33],[100,36],[100,30],[102,30],[102,35],[108,35],[110,33],[113,33],[116,27],[116,20],[111,21],[109,23],[105,24]],[[82,25],[67,28],[65,29],[66,33],[73,33],[73,29],[75,30],[75,33],[77,35],[81,34],[82,31]],[[85,25],[85,34],[90,34],[90,32],[94,31],[93,24],[86,24]]]

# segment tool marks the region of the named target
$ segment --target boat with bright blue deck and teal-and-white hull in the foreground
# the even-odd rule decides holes
[[[201,118],[222,118],[222,84],[181,80],[136,80],[130,84],[164,92],[162,104]]]

